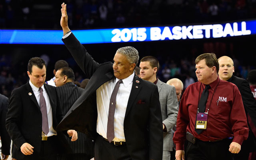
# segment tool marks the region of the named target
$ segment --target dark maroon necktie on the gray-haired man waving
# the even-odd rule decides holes
[[[107,128],[107,138],[108,141],[111,142],[115,137],[114,132],[114,114],[116,109],[116,94],[118,92],[118,88],[120,86],[120,83],[122,83],[122,80],[118,80],[116,82],[116,86],[111,94],[110,97],[110,103],[109,103],[109,110],[108,110],[108,128]]]

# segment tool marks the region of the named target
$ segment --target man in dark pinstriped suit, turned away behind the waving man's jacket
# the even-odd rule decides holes
[[[69,67],[63,67],[56,71],[54,83],[64,115],[84,91],[73,83],[74,79],[74,72]],[[61,160],[90,160],[93,157],[94,146],[92,140],[81,132],[77,132],[77,134],[78,140],[70,143],[73,154],[60,154]]]

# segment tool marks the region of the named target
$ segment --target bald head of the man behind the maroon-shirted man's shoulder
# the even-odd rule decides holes
[[[228,56],[222,56],[218,59],[220,64],[220,70],[218,72],[220,79],[227,81],[229,78],[232,77],[234,70],[234,62]]]

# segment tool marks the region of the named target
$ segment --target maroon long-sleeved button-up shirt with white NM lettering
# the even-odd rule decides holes
[[[196,82],[184,91],[173,138],[176,150],[184,150],[186,132],[192,133],[202,141],[214,141],[234,136],[233,142],[240,145],[248,138],[249,129],[241,94],[236,85],[220,80],[219,77],[210,84],[211,88],[206,102],[206,112],[210,106],[206,130],[199,135],[196,133],[198,100],[205,86],[201,82]]]

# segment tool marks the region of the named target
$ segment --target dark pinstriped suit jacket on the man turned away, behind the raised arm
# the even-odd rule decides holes
[[[84,91],[83,88],[76,86],[73,82],[68,82],[63,86],[56,87],[58,96],[60,98],[60,106],[65,115],[76,100]],[[88,138],[84,133],[77,132],[78,140],[70,142],[70,146],[74,153],[84,153],[93,157],[94,146],[92,139]]]

